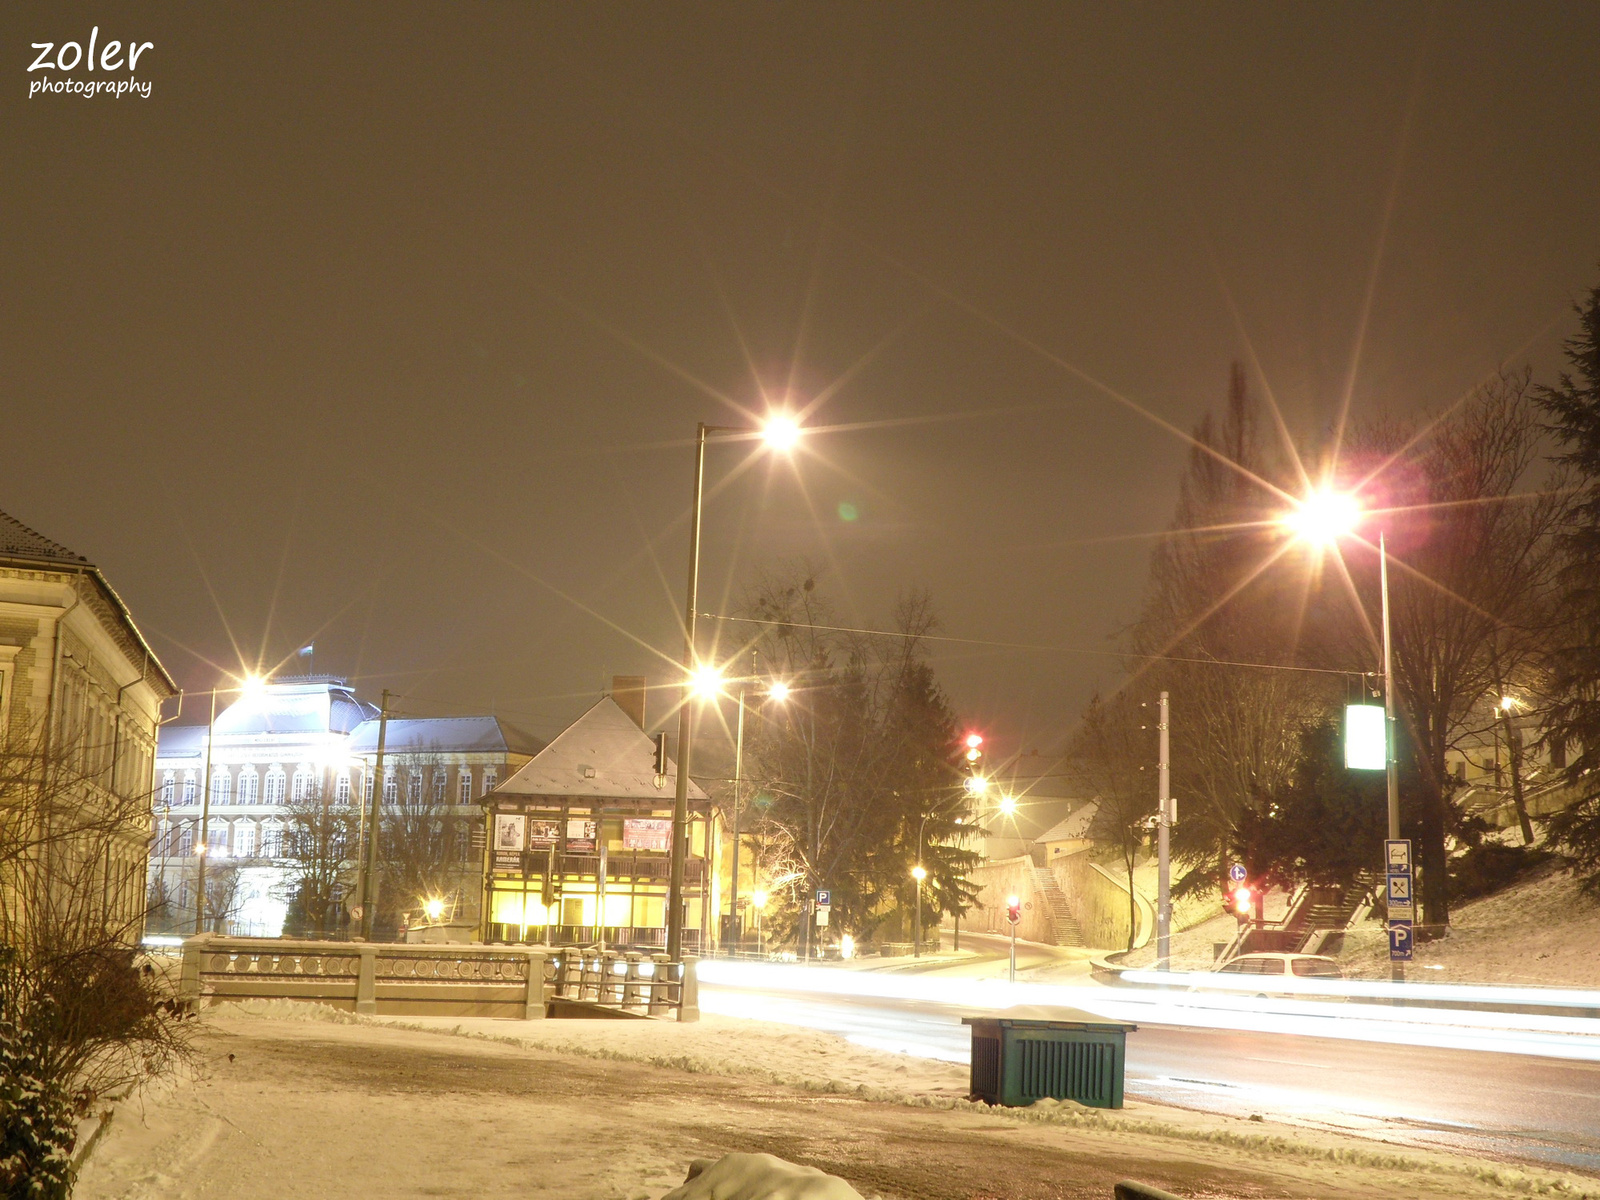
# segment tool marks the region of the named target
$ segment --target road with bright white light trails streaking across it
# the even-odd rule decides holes
[[[1275,1011],[1262,1013],[1248,1005],[1266,1002],[1245,997],[1144,1000],[1125,995],[1142,989],[712,960],[699,968],[707,1011],[958,1064],[968,1062],[971,1046],[962,1016],[1014,1005],[1070,1006],[1139,1026],[1128,1038],[1126,1094],[1134,1099],[1600,1170],[1600,1038],[1592,1034],[1470,1027],[1451,1034],[1432,1024],[1437,1010],[1373,1008],[1382,1016],[1366,1019],[1352,1016],[1352,1005],[1304,1000],[1274,1002]],[[1206,1003],[1187,1006],[1178,998]],[[1246,1010],[1230,1008],[1240,1005]],[[1307,1006],[1326,1013],[1306,1016]],[[1427,1021],[1403,1019],[1422,1013]],[[1402,1019],[1386,1019],[1394,1014]],[[1528,1038],[1542,1038],[1539,1056],[1528,1053]]]

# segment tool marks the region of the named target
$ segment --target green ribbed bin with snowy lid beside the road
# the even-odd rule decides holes
[[[1048,1096],[1122,1107],[1128,1034],[1138,1026],[1075,1008],[1008,1010],[962,1024],[973,1027],[973,1099],[1022,1107]]]

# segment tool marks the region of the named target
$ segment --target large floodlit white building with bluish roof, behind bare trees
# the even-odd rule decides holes
[[[254,938],[347,933],[376,784],[378,709],[336,675],[218,693],[214,718],[210,694],[192,699],[189,715],[197,706],[206,706],[198,714],[206,723],[165,726],[155,762],[149,872],[162,931],[195,931],[203,838],[206,928]],[[480,802],[541,744],[494,717],[390,717],[384,726],[381,829],[426,845],[381,846],[381,858],[397,870],[422,864],[440,880],[438,896],[389,898],[390,907],[442,899],[475,922]],[[331,830],[322,845],[318,827]],[[318,874],[331,909],[310,930],[294,899]]]

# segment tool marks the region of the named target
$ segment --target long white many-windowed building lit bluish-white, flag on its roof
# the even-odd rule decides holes
[[[334,675],[280,677],[242,693],[218,693],[214,720],[210,693],[190,696],[187,706],[184,718],[205,723],[163,726],[157,749],[150,891],[160,917],[152,928],[194,933],[203,822],[206,926],[277,938],[294,877],[285,840],[290,813],[317,802],[358,822],[371,797],[378,709]],[[541,742],[496,717],[387,722],[384,802],[427,800],[454,827],[464,917],[475,920],[478,904],[478,800],[539,749]],[[347,850],[354,859],[355,846]],[[354,880],[354,862],[344,874]]]

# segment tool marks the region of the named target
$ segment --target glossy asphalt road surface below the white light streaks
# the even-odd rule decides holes
[[[965,941],[965,939],[963,939]],[[1021,947],[1019,947],[1021,950]],[[706,982],[702,1006],[968,1061],[973,1010]],[[1486,1037],[1493,1037],[1488,1034]],[[1139,1022],[1128,1096],[1600,1171],[1600,1062]]]

